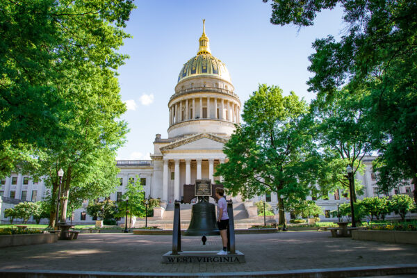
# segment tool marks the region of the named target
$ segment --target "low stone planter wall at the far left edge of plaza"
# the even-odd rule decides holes
[[[0,247],[56,243],[58,234],[24,234],[0,236]]]

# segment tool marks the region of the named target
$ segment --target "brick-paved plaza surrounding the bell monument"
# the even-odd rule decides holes
[[[183,237],[184,251],[220,250],[220,236]],[[242,272],[417,263],[417,245],[331,238],[330,232],[294,231],[236,235],[236,249],[246,263],[167,265],[161,256],[172,248],[172,236],[79,234],[78,240],[7,247],[0,250],[0,269],[115,272]]]

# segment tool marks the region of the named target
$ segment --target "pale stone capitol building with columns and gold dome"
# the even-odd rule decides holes
[[[128,182],[138,176],[145,196],[161,198],[161,210],[155,211],[160,218],[163,218],[165,208],[175,199],[181,200],[183,184],[195,183],[196,179],[222,181],[222,177],[214,178],[213,174],[219,163],[227,161],[222,152],[223,145],[234,132],[235,124],[240,124],[240,99],[231,83],[226,65],[211,54],[204,26],[199,38],[197,55],[190,58],[181,68],[178,83],[167,108],[167,138],[161,138],[161,134],[156,134],[154,154],[149,161],[117,161],[117,167],[120,168],[120,186],[110,196],[112,200],[120,200]],[[364,186],[364,195],[359,198],[377,195],[376,176],[372,171],[373,159],[374,156],[363,158],[366,171],[363,175],[357,174],[357,179],[360,179]],[[395,189],[395,193],[407,193],[413,189],[413,185],[402,186]],[[7,221],[7,218],[4,218],[4,208],[12,206],[13,203],[7,204],[6,199],[36,202],[42,200],[45,194],[46,188],[42,180],[34,182],[30,177],[18,173],[7,177],[1,181],[0,187],[0,196],[6,197],[3,198],[1,206],[1,222]],[[242,202],[239,197],[233,199],[234,202]],[[254,197],[250,201],[252,204],[245,202],[245,208],[253,206],[253,202],[259,199],[266,199],[272,208],[277,207],[277,196],[272,193],[268,196]],[[330,218],[329,211],[335,210],[337,204],[345,203],[347,200],[336,193],[329,194],[327,200],[317,202],[325,211],[325,215],[320,215],[320,218],[328,218],[330,221],[334,218]],[[88,202],[85,202],[83,207],[74,211],[73,223],[93,222],[90,215],[85,213],[87,204]],[[250,217],[251,213],[248,213]],[[286,219],[289,219],[289,213]]]

